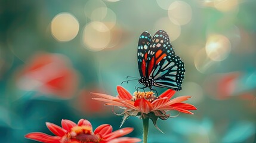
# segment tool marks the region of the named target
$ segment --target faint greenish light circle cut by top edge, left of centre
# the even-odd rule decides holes
[[[92,11],[94,11],[97,8],[101,8],[100,12],[102,14],[107,13],[107,6],[103,1],[100,1],[100,0],[98,0],[98,1],[95,1],[95,0],[87,1],[87,3],[85,4],[85,7],[84,7],[85,16],[88,17],[88,18],[91,18]],[[102,15],[102,16],[104,17],[104,15]]]

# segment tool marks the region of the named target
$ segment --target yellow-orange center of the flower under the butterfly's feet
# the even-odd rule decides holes
[[[153,102],[156,99],[158,99],[158,97],[156,97],[154,94],[155,93],[152,91],[147,91],[147,92],[135,91],[133,93],[134,96],[132,96],[131,101],[136,101],[138,99],[144,98],[145,100],[147,100],[149,102]]]

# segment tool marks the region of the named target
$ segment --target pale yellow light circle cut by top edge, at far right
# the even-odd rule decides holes
[[[219,11],[230,11],[239,8],[238,0],[215,0],[214,7]]]

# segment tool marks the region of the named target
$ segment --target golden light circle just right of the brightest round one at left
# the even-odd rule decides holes
[[[92,21],[84,27],[82,41],[90,51],[100,51],[106,48],[110,39],[110,30],[104,23]]]

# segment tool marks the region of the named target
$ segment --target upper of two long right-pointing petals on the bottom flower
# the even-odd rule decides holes
[[[109,133],[106,136],[102,136],[103,139],[109,141],[110,139],[118,138],[120,136],[127,135],[128,133],[132,132],[133,128],[123,128],[116,130],[115,132]]]

